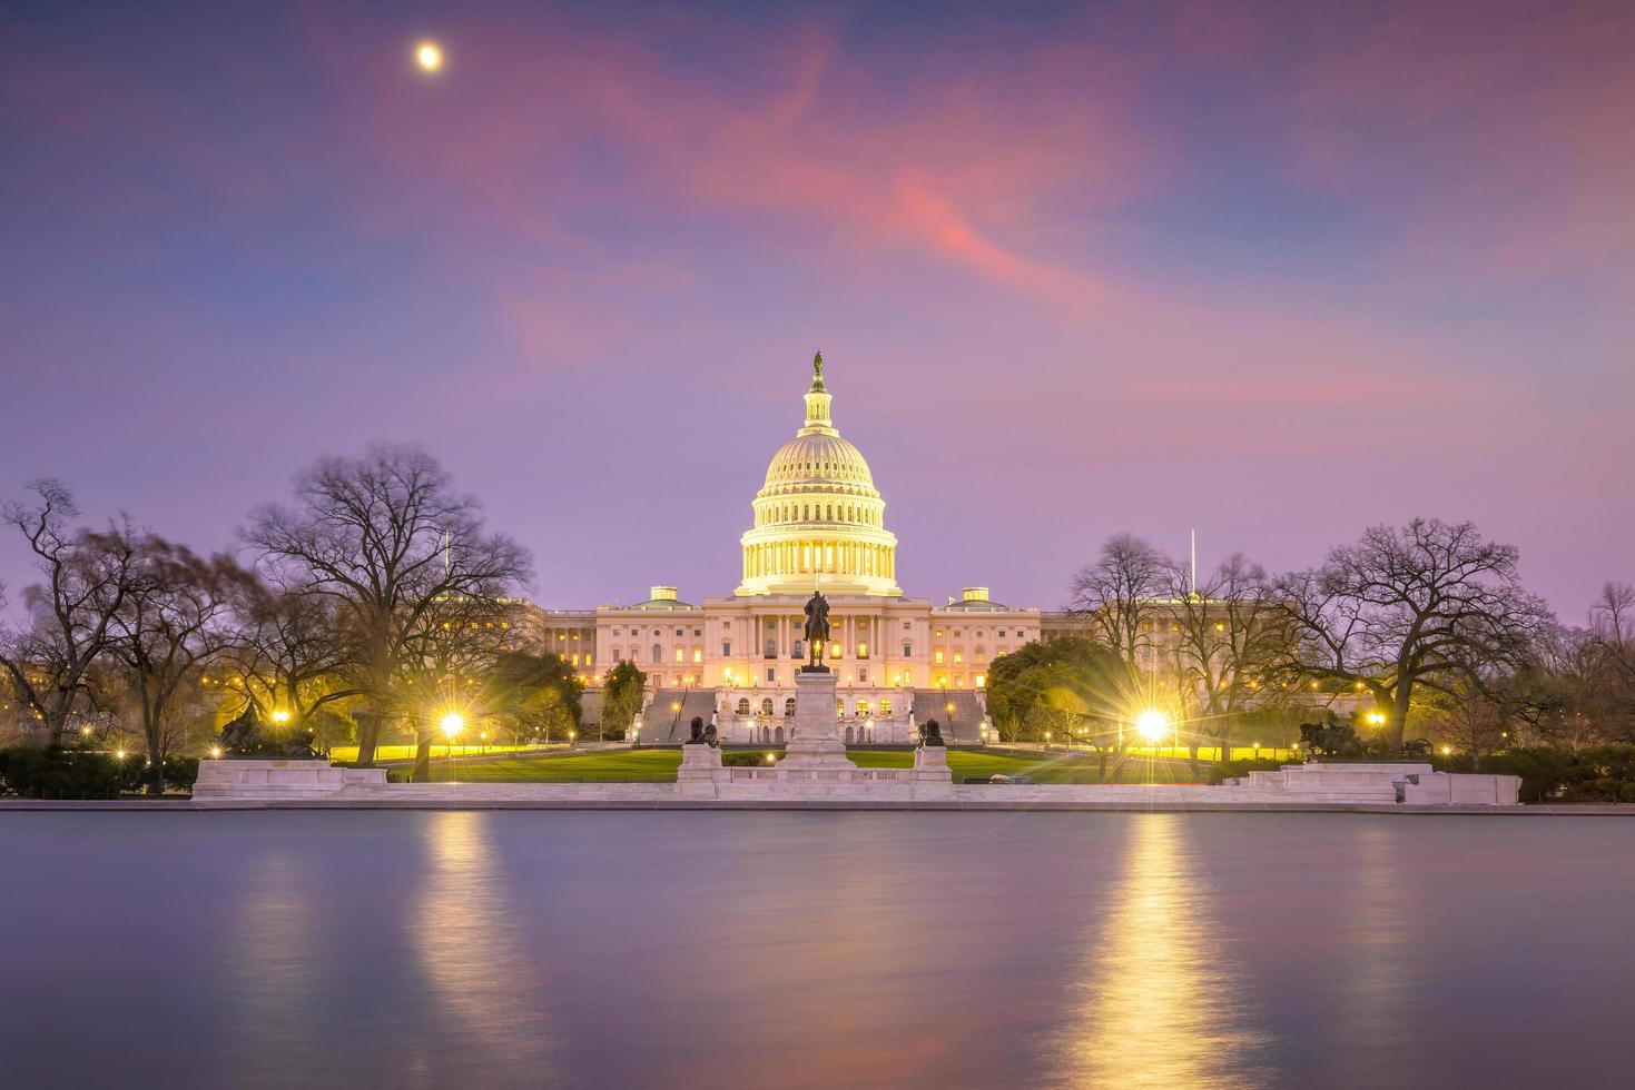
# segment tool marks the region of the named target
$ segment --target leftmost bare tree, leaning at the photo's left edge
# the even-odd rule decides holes
[[[23,592],[28,621],[0,628],[0,668],[18,699],[62,739],[88,696],[93,663],[108,649],[108,626],[124,606],[132,534],[123,516],[105,534],[75,529],[78,508],[62,482],[28,487],[39,503],[7,503],[3,516],[28,541],[41,582]]]

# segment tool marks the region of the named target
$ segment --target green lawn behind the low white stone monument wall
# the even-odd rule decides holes
[[[732,750],[734,753],[744,750]],[[767,750],[777,753],[778,750]],[[912,750],[852,750],[849,757],[860,768],[907,768],[914,763]],[[538,755],[510,760],[463,762],[453,765],[433,763],[435,780],[459,780],[464,783],[572,783],[572,781],[669,781],[682,763],[680,750],[611,750],[600,753],[574,753],[566,757]],[[1014,753],[991,750],[948,750],[948,768],[955,781],[963,776],[1033,776],[1040,783],[1097,783],[1094,757],[1058,753]],[[1198,762],[1202,781],[1208,778],[1208,762]],[[1131,757],[1117,783],[1192,783],[1192,771],[1184,760],[1153,760]]]

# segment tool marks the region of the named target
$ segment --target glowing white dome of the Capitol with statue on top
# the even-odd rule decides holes
[[[755,525],[741,539],[739,595],[901,595],[898,539],[885,528],[886,503],[862,451],[829,417],[822,353],[813,360],[806,422],[778,448],[755,494]]]

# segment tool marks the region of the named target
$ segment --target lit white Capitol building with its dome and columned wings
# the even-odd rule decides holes
[[[821,590],[832,626],[824,657],[837,673],[847,742],[909,742],[930,717],[945,735],[981,740],[989,663],[1066,631],[1069,619],[1001,605],[986,587],[943,605],[904,595],[886,502],[834,423],[821,355],[804,402],[800,430],[772,456],[750,503],[731,595],[687,601],[675,587],[652,587],[633,605],[538,610],[530,628],[592,685],[623,660],[646,672],[638,719],[646,742],[679,742],[703,716],[728,742],[775,744],[795,714],[795,672],[809,650],[803,608]]]

